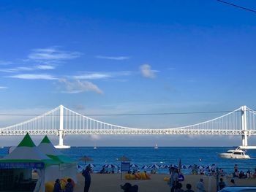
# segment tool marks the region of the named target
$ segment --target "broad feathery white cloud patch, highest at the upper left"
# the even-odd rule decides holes
[[[58,47],[48,47],[44,49],[34,49],[28,55],[29,59],[36,61],[61,61],[80,57],[80,52],[59,50]]]

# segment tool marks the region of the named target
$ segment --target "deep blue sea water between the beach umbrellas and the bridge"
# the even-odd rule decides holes
[[[211,166],[215,164],[216,167],[222,168],[224,172],[232,173],[235,164],[238,164],[239,170],[246,172],[250,169],[255,172],[256,169],[256,150],[247,150],[246,154],[250,155],[250,159],[225,159],[219,158],[219,153],[234,149],[235,147],[71,147],[69,149],[60,150],[61,153],[68,155],[74,161],[78,161],[79,169],[85,166],[84,161],[79,159],[86,155],[93,159],[93,161],[86,162],[86,164],[94,165],[94,172],[99,172],[105,164],[121,165],[117,159],[121,156],[126,156],[130,159],[131,164],[138,165],[137,169],[141,169],[144,165],[176,165],[178,166],[181,160],[182,166],[194,165],[197,166]],[[0,156],[7,155],[9,147],[0,149]],[[150,169],[146,169],[150,171]],[[189,174],[191,169],[182,169],[182,172]],[[159,173],[168,173],[168,169],[157,169]]]

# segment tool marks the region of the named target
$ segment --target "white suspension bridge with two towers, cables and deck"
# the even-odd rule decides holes
[[[175,128],[132,128],[105,123],[81,115],[60,105],[43,115],[12,126],[0,128],[0,136],[58,135],[58,148],[64,145],[64,135],[236,135],[241,136],[241,146],[248,146],[248,137],[256,135],[256,111],[242,106],[219,118],[190,126]]]

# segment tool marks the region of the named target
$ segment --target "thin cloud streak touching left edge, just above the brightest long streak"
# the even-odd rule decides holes
[[[15,72],[24,72],[24,71],[34,71],[34,70],[50,70],[55,68],[56,66],[53,66],[53,65],[39,64],[36,66],[18,66],[15,68],[0,69],[0,72],[15,73]]]

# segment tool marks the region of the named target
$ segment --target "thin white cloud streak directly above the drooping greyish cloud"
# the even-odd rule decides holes
[[[72,76],[76,80],[100,80],[108,79],[113,77],[129,76],[132,72],[121,71],[121,72],[83,72],[80,75]]]

